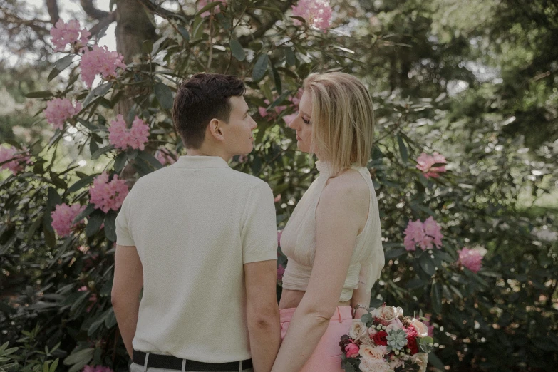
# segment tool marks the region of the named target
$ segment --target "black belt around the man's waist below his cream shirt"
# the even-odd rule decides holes
[[[132,354],[132,361],[140,366],[145,366],[145,356],[147,353],[143,351],[134,350]],[[182,370],[182,361],[184,359],[177,358],[172,355],[160,355],[149,353],[147,367],[152,368],[166,368]],[[252,368],[252,359],[242,361],[242,369]],[[199,361],[186,360],[186,371],[234,371],[238,372],[240,369],[240,362],[228,363],[204,363]]]

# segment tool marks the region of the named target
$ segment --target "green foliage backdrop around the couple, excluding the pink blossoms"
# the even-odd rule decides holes
[[[373,304],[431,314],[430,368],[558,366],[556,1],[331,0],[327,32],[295,26],[294,0],[229,0],[205,17],[186,0],[76,3],[0,3],[0,142],[26,146],[34,160],[26,172],[0,173],[0,344],[18,347],[0,368],[125,370],[110,308],[113,237],[100,227],[113,215],[99,212],[95,229],[57,239],[50,212],[61,202],[88,205],[91,175],[107,170],[132,185],[161,166],[155,150],[183,154],[168,93],[197,71],[246,81],[257,146],[231,165],[272,186],[278,229],[316,176],[283,120],[296,110],[289,98],[312,71],[359,76],[376,107],[368,167],[386,249]],[[77,79],[77,59],[53,72],[66,56],[53,53],[49,36],[60,17],[122,53],[125,74],[96,80],[92,91]],[[84,106],[63,130],[42,113],[55,96]],[[107,146],[117,113],[150,124],[145,151]],[[427,179],[416,158],[434,151],[448,172]],[[408,221],[430,216],[443,227],[443,249],[405,251]],[[485,254],[480,272],[455,263],[463,247]]]

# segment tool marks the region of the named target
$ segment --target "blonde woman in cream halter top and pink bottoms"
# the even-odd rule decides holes
[[[384,264],[378,202],[366,168],[373,140],[368,91],[346,73],[312,74],[289,124],[319,177],[281,235],[283,343],[272,372],[341,371],[339,339],[369,307]],[[357,307],[358,307],[357,306]]]

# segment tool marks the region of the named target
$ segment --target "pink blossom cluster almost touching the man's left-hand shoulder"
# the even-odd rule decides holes
[[[113,180],[108,181],[108,174],[103,172],[93,180],[93,187],[89,189],[89,197],[95,208],[108,212],[118,210],[129,189],[125,180],[118,180],[118,175],[114,175]]]

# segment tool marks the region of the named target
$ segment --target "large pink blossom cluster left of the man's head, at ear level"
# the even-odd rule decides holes
[[[108,140],[115,148],[126,150],[127,148],[139,148],[143,150],[148,143],[149,125],[143,120],[135,117],[130,129],[126,128],[123,115],[117,115],[108,127]]]

